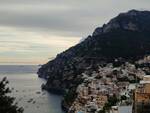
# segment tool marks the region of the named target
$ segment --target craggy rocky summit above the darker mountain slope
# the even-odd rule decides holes
[[[130,31],[149,31],[149,11],[131,10],[128,13],[121,13],[116,18],[104,24],[103,27],[95,29],[93,36],[110,32],[114,29],[130,30]]]

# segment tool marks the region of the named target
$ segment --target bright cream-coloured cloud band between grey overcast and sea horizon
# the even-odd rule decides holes
[[[76,37],[64,38],[47,33],[2,27],[0,28],[0,63],[21,60],[28,63],[46,63],[48,58],[56,56],[58,52],[75,45],[78,41],[79,38]]]

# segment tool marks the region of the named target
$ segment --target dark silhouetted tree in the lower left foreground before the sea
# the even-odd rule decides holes
[[[0,81],[0,113],[23,113],[23,108],[14,102],[15,98],[8,96],[11,93],[8,83],[6,77]]]

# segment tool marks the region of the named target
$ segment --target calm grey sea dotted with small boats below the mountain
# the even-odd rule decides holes
[[[24,113],[63,113],[60,107],[61,96],[41,91],[43,79],[38,78],[37,66],[0,65],[0,80],[7,77],[11,95],[16,97]]]

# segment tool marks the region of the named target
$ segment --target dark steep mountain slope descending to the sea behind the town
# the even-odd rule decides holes
[[[71,89],[82,82],[81,73],[108,62],[135,61],[150,54],[150,12],[131,10],[98,27],[83,42],[43,65],[39,77],[47,78],[50,91]]]

